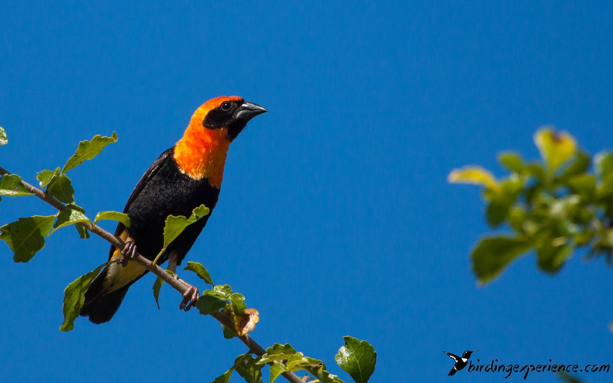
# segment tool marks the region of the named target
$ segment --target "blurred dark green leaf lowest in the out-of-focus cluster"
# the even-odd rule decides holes
[[[489,237],[479,241],[471,257],[473,271],[479,283],[487,283],[508,266],[512,260],[530,249],[526,240],[511,237]]]

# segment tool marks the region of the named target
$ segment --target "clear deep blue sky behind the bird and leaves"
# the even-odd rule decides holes
[[[186,257],[259,310],[263,346],[291,343],[341,372],[342,336],[368,339],[373,382],[504,381],[447,378],[442,351],[612,362],[603,260],[575,254],[552,277],[530,255],[479,287],[468,259],[489,230],[479,191],[446,182],[466,164],[501,174],[501,150],[538,156],[544,124],[592,153],[613,146],[611,3],[3,1],[0,15],[0,165],[33,183],[79,140],[116,131],[71,171],[90,216],[122,210],[207,99],[270,111],[230,147],[218,206]],[[28,214],[53,210],[0,202],[2,222]],[[245,351],[212,318],[178,311],[167,286],[158,311],[153,276],[109,324],[59,332],[64,287],[107,251],[72,229],[28,264],[0,246],[4,381],[207,382]]]

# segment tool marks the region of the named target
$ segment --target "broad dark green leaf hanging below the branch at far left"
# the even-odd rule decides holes
[[[55,216],[33,216],[0,227],[0,239],[12,249],[15,262],[28,262],[45,247],[45,237],[54,220]]]

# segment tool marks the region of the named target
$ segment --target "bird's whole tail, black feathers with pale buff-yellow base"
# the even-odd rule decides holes
[[[129,287],[145,273],[147,270],[135,262],[128,262],[126,267],[119,264],[105,267],[89,285],[80,315],[89,317],[94,324],[109,322]]]

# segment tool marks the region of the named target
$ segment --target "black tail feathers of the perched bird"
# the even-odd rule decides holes
[[[85,304],[81,308],[80,315],[89,317],[89,321],[94,324],[101,324],[111,320],[132,284],[129,283],[113,292],[107,292],[104,281],[108,272],[109,268],[105,267],[102,273],[91,282],[85,293]]]

